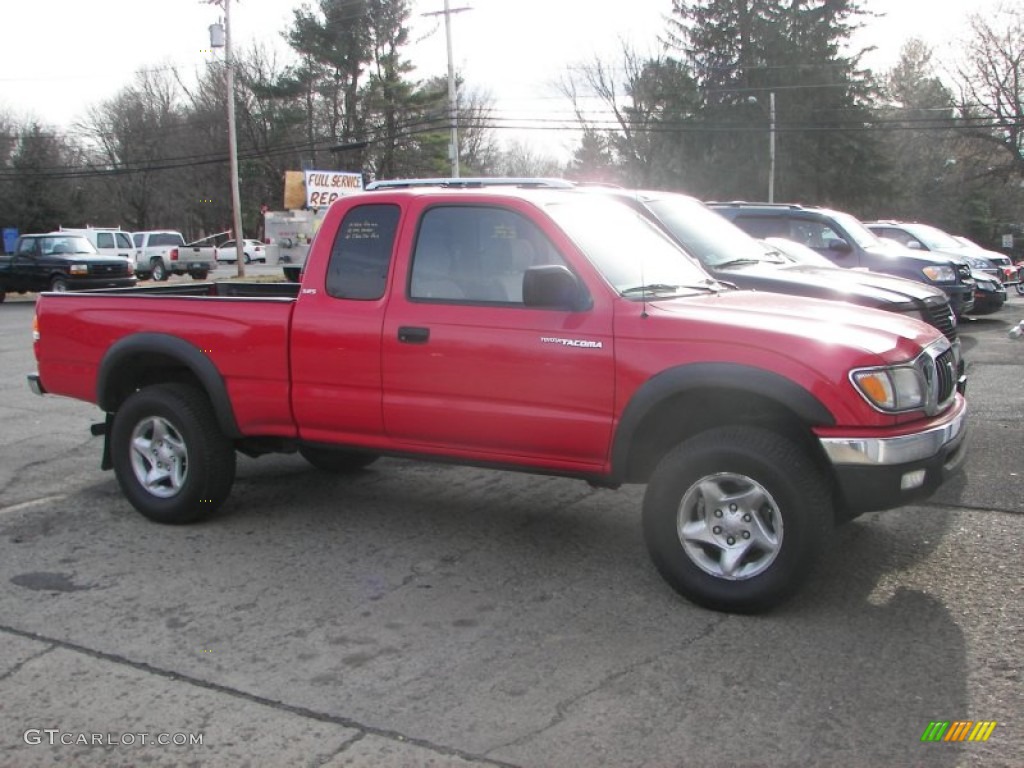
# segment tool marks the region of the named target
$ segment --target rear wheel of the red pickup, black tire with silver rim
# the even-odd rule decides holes
[[[180,525],[212,514],[234,481],[234,449],[209,398],[186,384],[129,396],[114,416],[111,452],[121,490],[155,522]]]

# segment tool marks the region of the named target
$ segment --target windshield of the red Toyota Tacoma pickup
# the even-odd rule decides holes
[[[656,224],[622,203],[580,197],[547,211],[620,295],[665,298],[717,286]],[[638,291],[644,286],[651,291]]]

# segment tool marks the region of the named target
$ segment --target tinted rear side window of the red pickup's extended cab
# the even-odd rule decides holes
[[[371,301],[384,295],[398,227],[398,207],[356,206],[345,214],[331,248],[327,292],[336,299]]]

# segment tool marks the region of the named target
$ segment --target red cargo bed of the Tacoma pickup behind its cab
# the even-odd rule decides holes
[[[142,344],[153,350],[144,362],[152,381],[173,378],[170,360],[184,355],[195,371],[217,372],[242,433],[292,436],[289,334],[298,288],[182,283],[43,294],[39,373],[48,392],[97,402],[103,360]]]

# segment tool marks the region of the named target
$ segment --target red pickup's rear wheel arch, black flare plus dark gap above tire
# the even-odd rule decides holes
[[[203,390],[221,431],[232,439],[242,436],[220,371],[198,347],[176,336],[135,334],[111,346],[99,364],[96,402],[114,413],[132,392],[172,381],[191,383]]]

